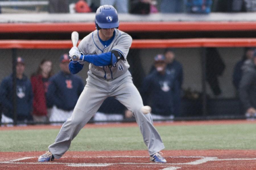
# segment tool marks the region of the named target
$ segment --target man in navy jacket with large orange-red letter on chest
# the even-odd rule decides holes
[[[61,71],[50,78],[46,99],[53,105],[50,122],[65,122],[73,112],[77,100],[84,89],[82,79],[69,71],[69,55],[59,59]]]

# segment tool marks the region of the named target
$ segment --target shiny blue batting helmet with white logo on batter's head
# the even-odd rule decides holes
[[[100,6],[95,15],[95,26],[101,28],[118,28],[119,20],[116,9],[112,5]]]

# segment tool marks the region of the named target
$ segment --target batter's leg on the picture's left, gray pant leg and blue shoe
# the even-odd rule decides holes
[[[90,120],[106,99],[106,92],[87,82],[77,101],[73,114],[61,127],[55,142],[50,145],[49,152],[38,158],[39,162],[48,162],[53,158],[59,159],[69,149],[71,141]],[[53,157],[52,157],[53,156]]]

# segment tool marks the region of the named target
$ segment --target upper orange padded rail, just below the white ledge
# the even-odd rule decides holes
[[[129,32],[159,31],[255,31],[256,22],[120,22],[119,29]],[[1,23],[0,33],[91,32],[94,22],[78,23]]]

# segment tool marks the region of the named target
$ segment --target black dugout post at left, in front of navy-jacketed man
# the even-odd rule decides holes
[[[17,95],[16,95],[16,58],[17,49],[12,49],[13,58],[13,125],[17,125]]]

